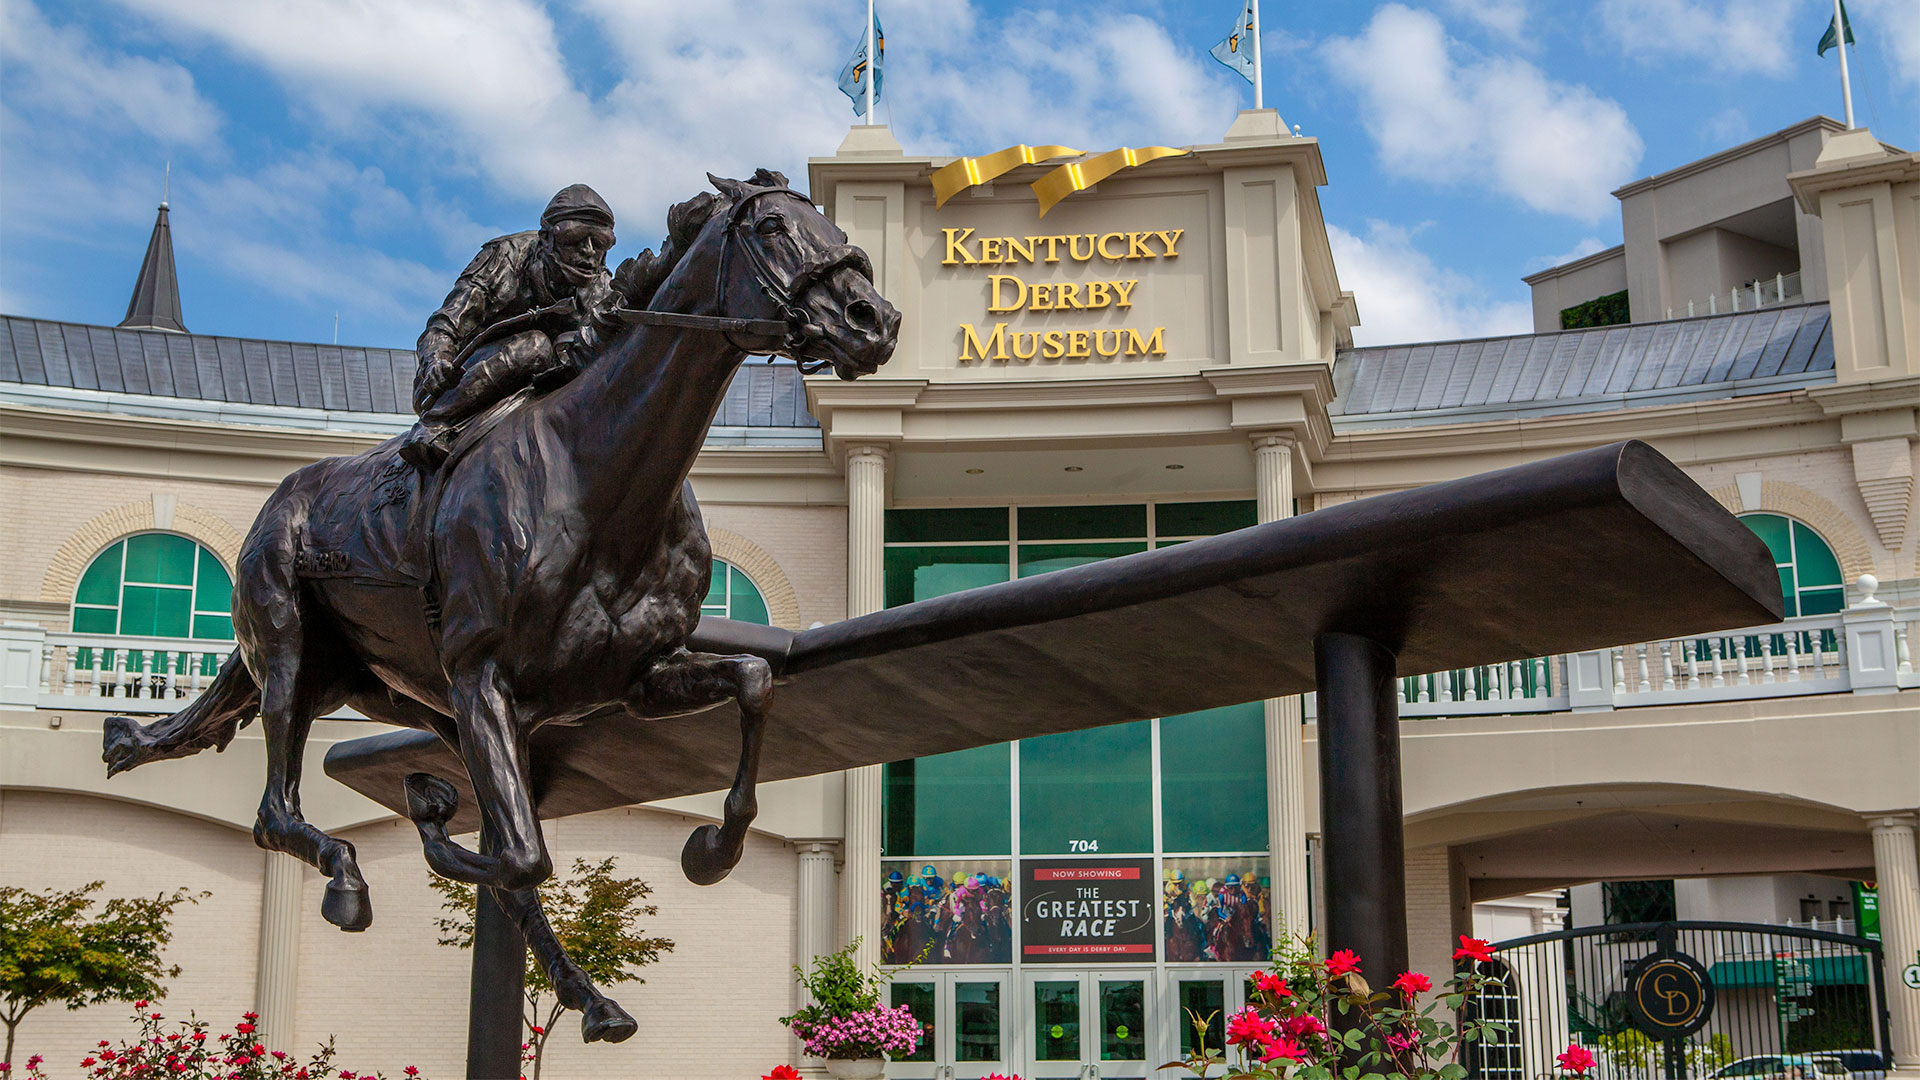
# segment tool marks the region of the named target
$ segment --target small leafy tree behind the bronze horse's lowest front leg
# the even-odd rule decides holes
[[[436,919],[442,945],[474,945],[474,886],[430,876],[428,884],[442,896],[440,907],[449,917]],[[643,903],[653,888],[639,878],[616,878],[614,861],[601,859],[588,863],[574,859],[568,876],[555,876],[540,886],[540,903],[547,911],[553,936],[561,940],[566,955],[580,965],[599,986],[618,986],[622,982],[647,982],[639,976],[639,967],[651,965],[662,953],[674,949],[666,938],[647,938],[639,932],[639,920],[659,915],[659,907]],[[528,955],[526,959],[526,1032],[534,1059],[534,1080],[540,1080],[540,1057],[547,1047],[547,1036],[559,1022],[563,1005],[553,994],[545,969]]]

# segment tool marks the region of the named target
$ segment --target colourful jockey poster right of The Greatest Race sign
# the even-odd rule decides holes
[[[1165,859],[1160,924],[1167,963],[1261,963],[1273,955],[1267,859]]]

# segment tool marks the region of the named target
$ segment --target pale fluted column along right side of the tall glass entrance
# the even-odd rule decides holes
[[[1294,436],[1254,436],[1254,496],[1260,521],[1294,515]],[[1308,930],[1308,805],[1302,778],[1300,698],[1267,701],[1267,847],[1273,861],[1273,926]]]

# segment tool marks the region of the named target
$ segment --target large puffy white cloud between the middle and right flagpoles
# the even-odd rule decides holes
[[[1396,175],[1482,183],[1526,206],[1599,221],[1607,194],[1640,161],[1626,110],[1586,86],[1548,79],[1517,58],[1457,58],[1440,19],[1400,4],[1375,12],[1325,60],[1361,98],[1361,123]]]

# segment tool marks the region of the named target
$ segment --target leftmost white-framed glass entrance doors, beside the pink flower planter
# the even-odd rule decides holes
[[[893,980],[891,1005],[908,1005],[920,1020],[920,1049],[895,1059],[900,1080],[979,1080],[1010,1072],[1010,976],[1004,972],[908,970]]]

